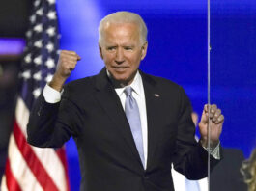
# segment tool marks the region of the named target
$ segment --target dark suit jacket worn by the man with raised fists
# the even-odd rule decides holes
[[[171,163],[187,178],[206,177],[208,154],[194,140],[185,91],[167,79],[140,73],[148,120],[146,170],[105,68],[67,84],[59,103],[46,103],[41,95],[28,123],[28,143],[55,148],[72,136],[83,191],[173,191]],[[215,163],[213,159],[211,165]]]

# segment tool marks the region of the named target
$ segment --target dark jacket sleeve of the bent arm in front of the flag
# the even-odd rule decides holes
[[[70,139],[76,137],[76,127],[79,125],[80,111],[69,100],[68,87],[58,103],[47,103],[40,95],[30,114],[27,125],[27,141],[29,144],[42,148],[58,148]]]

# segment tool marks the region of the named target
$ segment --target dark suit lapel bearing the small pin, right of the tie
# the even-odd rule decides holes
[[[160,125],[158,118],[161,113],[160,95],[156,89],[156,81],[147,74],[141,72],[147,109],[148,121],[148,162],[147,170],[149,170],[154,163],[154,155],[156,151],[157,142],[159,139],[159,131],[157,126]]]

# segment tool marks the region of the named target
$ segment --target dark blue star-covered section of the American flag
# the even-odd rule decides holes
[[[28,98],[38,98],[43,86],[53,78],[58,50],[56,0],[34,0],[30,15],[30,29],[26,33],[27,46],[19,77],[28,85]]]

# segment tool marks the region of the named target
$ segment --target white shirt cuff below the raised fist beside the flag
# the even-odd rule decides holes
[[[63,90],[61,92],[56,91],[55,89],[51,88],[48,84],[46,84],[43,89],[43,97],[47,103],[60,102],[62,93]]]

